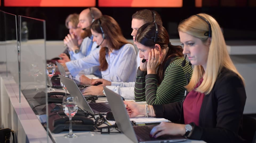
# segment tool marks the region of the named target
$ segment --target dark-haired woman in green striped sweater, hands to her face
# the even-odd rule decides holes
[[[140,27],[135,42],[142,61],[137,70],[135,101],[146,101],[149,105],[181,101],[184,86],[192,75],[182,47],[171,45],[166,29],[155,23]]]

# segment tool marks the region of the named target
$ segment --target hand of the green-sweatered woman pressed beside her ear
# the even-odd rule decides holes
[[[160,54],[157,48],[151,49],[149,52],[149,59],[147,61],[147,74],[156,74],[157,68],[161,63],[163,53]]]

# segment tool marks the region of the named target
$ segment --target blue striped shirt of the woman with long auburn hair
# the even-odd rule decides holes
[[[99,50],[94,50],[90,55],[74,60],[73,63],[66,62],[66,66],[72,75],[79,71],[94,66],[99,66]],[[102,78],[116,82],[134,82],[137,72],[136,51],[132,44],[125,44],[119,50],[113,50],[106,54],[108,63],[107,70],[101,71]]]

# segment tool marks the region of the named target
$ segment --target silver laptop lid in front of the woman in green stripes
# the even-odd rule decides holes
[[[61,81],[66,86],[67,90],[69,91],[69,94],[71,96],[77,96],[77,98],[78,98],[78,107],[80,107],[84,111],[89,111],[92,114],[94,114],[93,110],[89,106],[86,99],[83,97],[83,94],[79,90],[75,81],[73,81],[72,79],[69,79],[65,76],[62,76],[62,75],[59,75],[59,77],[61,78]]]

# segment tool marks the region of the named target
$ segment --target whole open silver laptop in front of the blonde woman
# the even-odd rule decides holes
[[[121,96],[106,87],[103,88],[118,128],[133,142],[181,142],[187,140],[183,136],[165,135],[158,138],[150,137],[150,131],[155,125],[132,126]]]

